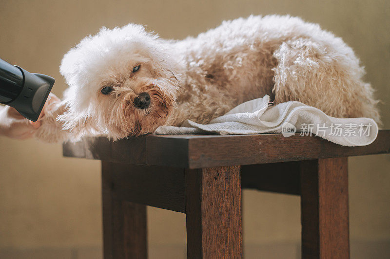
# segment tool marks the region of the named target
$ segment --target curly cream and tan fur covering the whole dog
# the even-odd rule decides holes
[[[136,24],[102,28],[64,56],[60,72],[69,88],[52,115],[59,116],[46,116],[37,132],[51,142],[86,133],[116,140],[186,119],[208,123],[265,94],[334,117],[380,120],[352,49],[319,25],[290,16],[224,21],[184,40],[161,39]],[[106,86],[113,88],[108,95],[100,92]],[[133,105],[141,92],[151,96],[148,109]]]

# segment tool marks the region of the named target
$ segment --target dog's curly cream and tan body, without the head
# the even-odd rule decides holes
[[[292,17],[250,17],[176,43],[185,49],[184,82],[168,121],[208,123],[236,105],[274,94],[335,117],[380,121],[364,69],[340,38]],[[184,44],[184,45],[183,45]]]

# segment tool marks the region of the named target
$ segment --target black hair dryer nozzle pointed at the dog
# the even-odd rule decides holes
[[[0,59],[0,103],[15,108],[31,121],[37,121],[54,78],[30,73]]]

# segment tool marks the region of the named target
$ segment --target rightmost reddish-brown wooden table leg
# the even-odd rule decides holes
[[[302,258],[349,258],[347,157],[302,161]]]

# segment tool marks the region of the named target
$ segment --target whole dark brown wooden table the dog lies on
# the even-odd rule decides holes
[[[390,152],[318,137],[167,135],[63,145],[102,161],[104,258],[147,258],[146,205],[186,214],[188,258],[242,258],[241,189],[301,197],[302,258],[349,258],[347,157]]]

